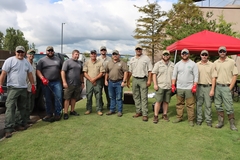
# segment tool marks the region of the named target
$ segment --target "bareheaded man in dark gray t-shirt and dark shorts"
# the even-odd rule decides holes
[[[64,115],[63,119],[67,120],[69,103],[71,105],[70,115],[79,116],[74,110],[76,100],[80,97],[81,90],[84,88],[82,62],[78,61],[79,51],[72,51],[72,58],[63,63],[61,77],[64,87]]]

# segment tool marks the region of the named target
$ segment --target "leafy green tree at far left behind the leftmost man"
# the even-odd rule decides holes
[[[6,29],[3,48],[5,50],[14,51],[16,46],[19,45],[28,50],[28,41],[25,39],[23,32],[20,30],[15,30],[14,28]]]

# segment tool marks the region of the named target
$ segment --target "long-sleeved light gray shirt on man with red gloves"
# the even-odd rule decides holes
[[[193,83],[198,82],[197,64],[190,59],[187,62],[179,61],[174,67],[172,79],[177,80],[177,88],[191,89]]]

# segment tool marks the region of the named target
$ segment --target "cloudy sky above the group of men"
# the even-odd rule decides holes
[[[177,0],[158,3],[168,11]],[[146,0],[0,0],[0,31],[5,35],[9,27],[19,29],[39,52],[48,45],[61,52],[63,26],[64,53],[89,52],[104,45],[108,52],[134,54],[137,41],[132,35],[141,16],[134,5],[146,4]]]

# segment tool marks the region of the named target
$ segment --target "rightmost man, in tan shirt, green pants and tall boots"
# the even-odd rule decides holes
[[[225,46],[219,47],[218,53],[219,59],[214,62],[215,70],[217,71],[214,96],[214,103],[218,112],[218,124],[216,128],[222,128],[224,125],[224,109],[222,106],[224,104],[230,122],[230,129],[237,131],[231,90],[236,83],[238,70],[234,60],[228,58]]]

